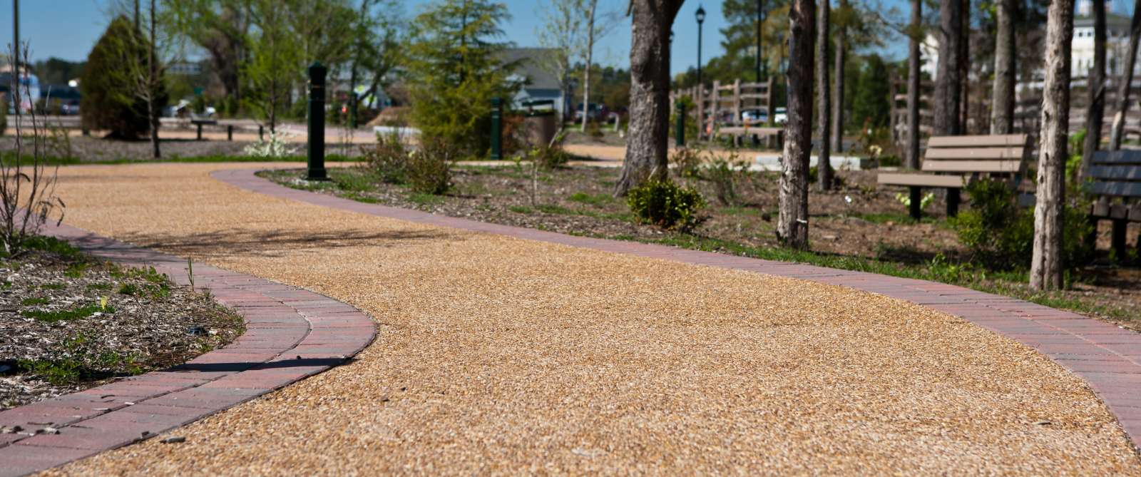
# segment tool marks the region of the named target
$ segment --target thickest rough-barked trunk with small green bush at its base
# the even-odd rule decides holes
[[[616,196],[647,179],[669,178],[670,26],[683,0],[633,0],[630,35],[630,124]],[[809,83],[811,88],[811,83]]]

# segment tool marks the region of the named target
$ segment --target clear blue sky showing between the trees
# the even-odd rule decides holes
[[[429,0],[407,1],[408,14]],[[535,30],[542,25],[541,7],[548,0],[504,0],[511,13],[511,22],[504,25],[507,40],[519,46],[536,46],[539,40]],[[869,0],[879,1],[879,0]],[[107,23],[107,9],[112,0],[24,0],[21,2],[21,35],[31,41],[32,58],[46,59],[50,56],[80,60],[87,57],[91,46],[103,33]],[[693,66],[697,58],[697,24],[694,11],[698,5],[706,10],[704,24],[703,52],[704,59],[722,52],[718,29],[725,26],[721,16],[720,0],[687,0],[674,23],[674,49],[672,68],[685,71]],[[883,9],[892,7],[907,8],[904,0],[882,0]],[[13,0],[0,0],[0,46],[11,42],[11,7]],[[625,14],[626,0],[599,0],[602,10],[620,11],[621,23],[604,38],[594,52],[599,63],[612,65],[629,64],[630,54],[630,18]],[[901,42],[893,42],[884,49],[888,56],[901,57],[905,51]]]

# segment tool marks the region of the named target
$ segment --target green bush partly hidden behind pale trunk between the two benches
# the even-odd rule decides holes
[[[1015,192],[1005,183],[982,179],[968,184],[971,209],[958,215],[953,225],[963,245],[994,269],[1025,269],[1034,253],[1034,209],[1019,208]],[[1082,264],[1091,251],[1085,237],[1091,226],[1087,205],[1067,204],[1062,229],[1062,261],[1067,267]]]

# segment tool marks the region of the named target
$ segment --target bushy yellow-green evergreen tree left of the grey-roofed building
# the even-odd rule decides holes
[[[503,3],[442,0],[413,22],[412,121],[426,138],[442,139],[461,154],[484,155],[491,144],[491,99],[510,100],[518,84],[503,65],[507,43],[500,24]]]

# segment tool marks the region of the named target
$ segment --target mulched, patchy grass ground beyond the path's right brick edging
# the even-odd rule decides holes
[[[330,183],[305,181],[299,170],[262,175],[298,188],[496,224],[762,258],[768,251],[779,250],[775,236],[776,173],[743,173],[734,187],[734,197],[726,201],[717,199],[717,187],[709,180],[678,178],[696,187],[709,201],[705,220],[689,233],[678,233],[633,219],[626,204],[612,196],[618,172],[614,168],[572,167],[540,171],[533,181],[527,167],[464,165],[455,168],[453,188],[442,196],[414,194],[404,186],[379,183],[357,168],[332,171],[334,180]],[[814,188],[809,200],[811,249],[817,257],[832,260],[824,265],[945,281],[1141,328],[1138,326],[1141,270],[1136,268],[1090,264],[1079,270],[1071,290],[1049,297],[1034,296],[1026,290],[1025,274],[993,273],[971,260],[945,217],[941,197],[937,196],[925,209],[925,218],[916,223],[907,217],[906,208],[896,197],[903,189],[876,187],[874,172],[842,171],[840,178],[840,187],[827,193]],[[533,185],[537,185],[534,200]],[[1108,249],[1108,233],[1103,225],[1099,234],[1101,250]],[[1132,246],[1136,246],[1136,233],[1131,228]],[[845,258],[857,261],[845,264]]]

